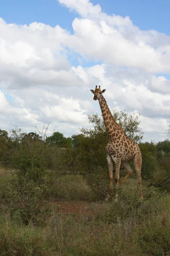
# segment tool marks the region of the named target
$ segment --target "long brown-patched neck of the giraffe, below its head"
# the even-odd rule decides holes
[[[115,119],[113,118],[111,111],[107,105],[105,98],[101,95],[99,99],[99,105],[102,111],[103,121],[105,124],[105,128],[108,132],[109,137],[113,138],[116,136],[116,130],[119,126]]]

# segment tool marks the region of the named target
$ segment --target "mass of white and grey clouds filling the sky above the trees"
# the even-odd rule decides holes
[[[170,37],[142,31],[88,0],[59,3],[78,14],[72,34],[57,24],[20,26],[0,18],[0,128],[34,131],[51,122],[49,132],[77,134],[89,127],[88,114],[100,113],[89,91],[100,84],[111,109],[141,114],[144,140],[166,139]]]

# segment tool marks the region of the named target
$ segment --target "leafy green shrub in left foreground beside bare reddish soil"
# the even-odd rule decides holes
[[[42,224],[51,211],[44,200],[48,194],[45,184],[37,184],[28,175],[14,177],[11,184],[11,204],[8,210],[12,218],[19,218],[23,224]]]

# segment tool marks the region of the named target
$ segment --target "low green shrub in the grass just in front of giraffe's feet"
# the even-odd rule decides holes
[[[139,199],[139,186],[136,180],[131,179],[130,186],[119,187],[119,197],[117,201],[112,199],[104,212],[98,213],[98,218],[107,223],[115,223],[118,219],[126,220],[135,215],[138,221],[143,221],[144,215],[150,213],[150,198],[159,200],[165,196],[166,192],[161,193],[158,188],[153,186],[143,186],[144,200]]]

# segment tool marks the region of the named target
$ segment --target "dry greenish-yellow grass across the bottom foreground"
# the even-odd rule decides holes
[[[1,255],[168,256],[170,197],[153,196],[144,204],[125,218],[120,216],[119,203],[89,203],[95,212],[91,217],[54,209],[44,227],[23,226],[1,216]]]

